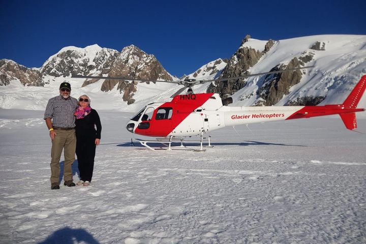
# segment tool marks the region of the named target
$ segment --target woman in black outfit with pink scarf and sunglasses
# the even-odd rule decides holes
[[[79,97],[75,117],[76,156],[80,172],[80,180],[76,185],[87,187],[92,181],[96,146],[100,143],[102,125],[97,111],[90,107],[90,98],[86,95]]]

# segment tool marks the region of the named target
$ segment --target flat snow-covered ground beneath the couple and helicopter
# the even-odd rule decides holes
[[[99,113],[92,184],[50,190],[43,111],[0,109],[1,243],[366,243],[366,119],[363,133],[330,116],[151,151],[131,146],[132,113]]]

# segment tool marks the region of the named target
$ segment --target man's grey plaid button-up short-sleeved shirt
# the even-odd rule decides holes
[[[59,95],[48,100],[44,119],[51,118],[54,127],[74,128],[74,112],[77,107],[78,101],[75,98],[65,100]]]

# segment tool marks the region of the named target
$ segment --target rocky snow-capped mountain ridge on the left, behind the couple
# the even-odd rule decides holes
[[[52,55],[42,65],[41,68],[28,69],[20,66],[12,60],[0,60],[0,85],[4,85],[5,98],[13,97],[11,94],[13,86],[39,86],[57,87],[57,83],[65,80],[69,81],[73,87],[80,86],[80,80],[71,80],[72,75],[95,75],[106,77],[130,77],[140,79],[164,79],[172,80],[172,76],[162,67],[154,55],[147,54],[134,45],[125,47],[121,52],[109,48],[101,48],[98,45],[87,46],[85,48],[65,47]],[[81,87],[97,82],[96,79],[84,80]],[[103,80],[99,84],[99,90],[110,92],[112,89],[118,90],[120,99],[127,104],[134,103],[133,96],[136,92],[136,85],[126,81]],[[10,89],[9,89],[10,88]],[[95,87],[92,88],[95,91]],[[34,89],[37,90],[36,87]],[[26,90],[26,88],[25,88]],[[41,89],[42,90],[42,89]],[[86,89],[89,92],[88,89]],[[86,92],[85,91],[85,92]],[[10,101],[3,108],[7,108]],[[12,105],[11,105],[12,106]],[[32,106],[29,103],[26,106]]]

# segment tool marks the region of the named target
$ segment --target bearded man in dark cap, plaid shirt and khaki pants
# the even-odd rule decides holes
[[[59,96],[48,100],[44,119],[52,140],[51,148],[51,189],[59,189],[59,160],[64,150],[64,185],[74,187],[72,164],[75,160],[76,136],[74,112],[78,106],[75,98],[70,97],[71,85],[63,82],[59,87]]]

